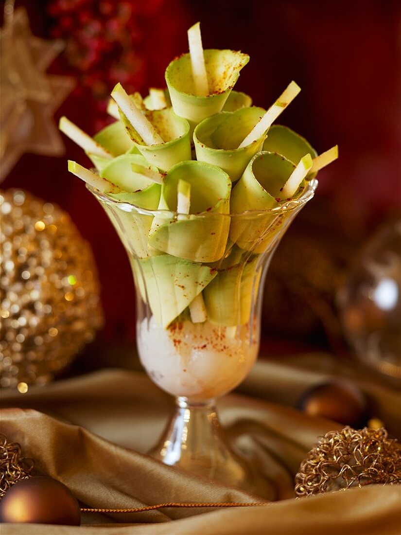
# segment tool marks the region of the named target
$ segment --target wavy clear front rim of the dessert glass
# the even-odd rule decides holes
[[[149,210],[146,208],[141,208],[137,204],[129,203],[128,201],[122,201],[116,198],[111,197],[109,194],[105,192],[101,192],[101,190],[91,186],[90,184],[86,184],[86,187],[88,190],[99,200],[105,202],[106,204],[113,205],[114,207],[118,207],[121,210],[125,212],[136,212],[140,213],[142,215],[147,215],[151,217],[176,217],[176,216],[185,216],[185,217],[197,217],[197,218],[210,218],[210,217],[229,217],[230,219],[233,218],[239,218],[239,217],[257,217],[257,216],[266,216],[268,214],[274,215],[280,215],[282,213],[292,212],[293,210],[296,210],[300,207],[303,207],[308,201],[312,199],[314,196],[315,190],[319,185],[319,181],[317,179],[312,179],[310,182],[307,182],[307,185],[305,187],[305,191],[303,194],[298,197],[297,199],[291,199],[289,201],[286,201],[280,206],[269,208],[266,210],[244,210],[243,212],[237,212],[237,213],[221,213],[221,212],[213,212],[213,211],[207,211],[207,212],[199,212],[194,214],[181,214],[178,211],[175,210]],[[127,192],[129,193],[129,192]]]

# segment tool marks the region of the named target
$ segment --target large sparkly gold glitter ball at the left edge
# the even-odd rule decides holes
[[[103,325],[94,257],[66,212],[0,192],[0,386],[48,383]]]

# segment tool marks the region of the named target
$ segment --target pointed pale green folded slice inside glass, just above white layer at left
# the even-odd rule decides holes
[[[163,328],[183,312],[217,275],[217,270],[171,255],[134,261],[133,273],[143,301]]]

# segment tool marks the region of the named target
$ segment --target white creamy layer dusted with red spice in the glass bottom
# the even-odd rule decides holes
[[[252,338],[252,339],[251,339]],[[210,322],[174,322],[167,329],[154,317],[138,328],[141,362],[169,394],[202,401],[226,394],[248,375],[258,354],[256,328]]]

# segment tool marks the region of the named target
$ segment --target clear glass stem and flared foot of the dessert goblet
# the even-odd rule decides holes
[[[149,455],[197,476],[213,479],[263,498],[272,498],[271,484],[256,467],[228,444],[215,401],[190,402],[176,398],[175,412]]]

